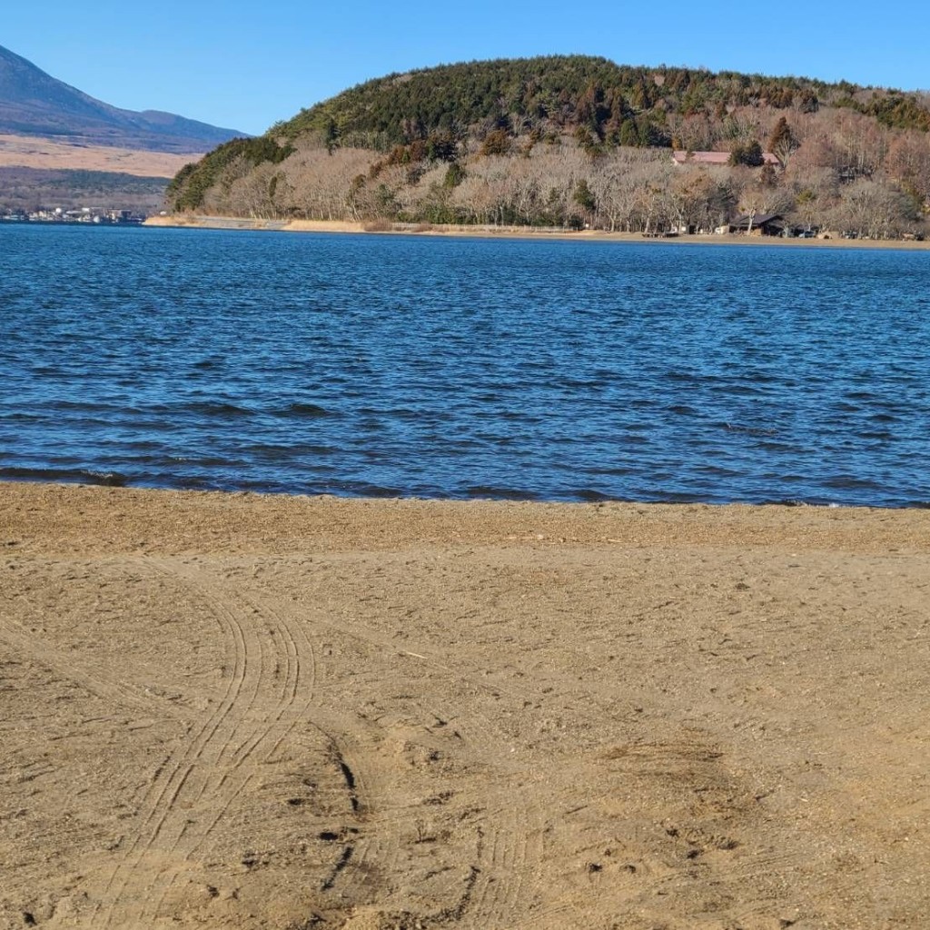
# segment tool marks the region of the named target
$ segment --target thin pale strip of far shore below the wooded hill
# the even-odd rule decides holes
[[[930,241],[898,239],[782,239],[777,236],[675,235],[651,237],[643,233],[608,233],[602,230],[543,230],[525,226],[453,226],[429,223],[374,223],[326,219],[249,219],[246,217],[150,217],[149,227],[172,229],[238,230],[274,233],[349,233],[365,235],[416,235],[467,239],[526,239],[552,242],[619,242],[679,246],[784,246],[795,248],[870,248],[930,250]],[[375,228],[381,226],[391,228]]]

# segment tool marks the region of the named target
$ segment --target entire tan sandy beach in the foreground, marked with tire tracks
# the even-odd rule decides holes
[[[0,927],[918,928],[930,512],[0,484]]]

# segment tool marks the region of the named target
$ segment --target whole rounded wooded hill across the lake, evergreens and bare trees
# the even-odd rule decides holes
[[[669,149],[727,155],[673,169]],[[584,56],[443,65],[219,146],[179,173],[168,203],[612,230],[707,229],[748,210],[917,234],[930,210],[930,96]]]

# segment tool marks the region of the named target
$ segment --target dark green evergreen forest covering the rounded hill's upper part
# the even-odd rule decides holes
[[[512,134],[537,126],[590,130],[612,145],[671,145],[669,117],[728,108],[814,112],[822,104],[868,113],[886,126],[930,129],[928,101],[915,94],[825,84],[798,77],[631,67],[603,58],[472,61],[390,74],[352,87],[274,127],[294,139],[307,130],[372,148],[475,127]]]

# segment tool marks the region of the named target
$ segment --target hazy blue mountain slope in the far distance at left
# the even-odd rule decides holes
[[[246,133],[174,113],[120,110],[46,74],[0,46],[0,134],[81,145],[199,153]]]

